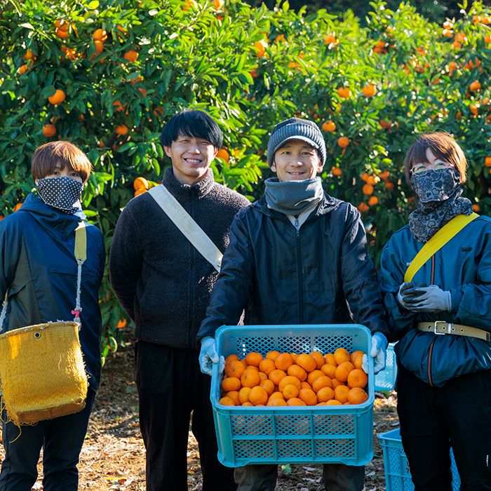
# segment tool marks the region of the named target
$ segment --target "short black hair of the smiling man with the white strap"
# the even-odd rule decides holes
[[[160,135],[161,144],[170,147],[180,135],[208,140],[213,147],[220,149],[223,133],[216,121],[203,111],[182,111],[167,121]]]

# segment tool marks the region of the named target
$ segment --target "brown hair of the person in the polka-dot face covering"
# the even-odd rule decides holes
[[[32,156],[31,173],[34,180],[43,179],[55,168],[74,170],[82,179],[88,180],[92,164],[79,147],[70,142],[49,142],[37,147]]]

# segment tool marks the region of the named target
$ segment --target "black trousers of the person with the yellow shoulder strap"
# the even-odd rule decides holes
[[[415,491],[452,490],[450,445],[460,490],[491,490],[491,370],[432,387],[399,365],[396,388]]]

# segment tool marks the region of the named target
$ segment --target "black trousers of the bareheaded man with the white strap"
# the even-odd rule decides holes
[[[210,403],[211,377],[199,369],[199,352],[139,341],[135,344],[140,429],[147,449],[147,491],[187,490],[187,440],[199,445],[203,491],[235,490],[234,469],[217,459]]]

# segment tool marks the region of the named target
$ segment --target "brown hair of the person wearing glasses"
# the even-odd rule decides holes
[[[467,180],[467,161],[462,148],[446,131],[436,131],[419,137],[410,147],[404,157],[405,180],[411,185],[410,170],[415,163],[426,162],[426,149],[434,156],[445,162],[452,163],[460,173],[460,182]]]

